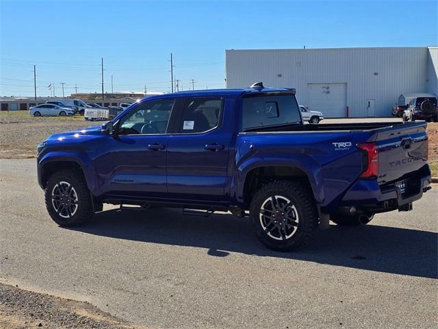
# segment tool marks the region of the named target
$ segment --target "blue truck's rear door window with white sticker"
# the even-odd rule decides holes
[[[218,126],[221,98],[189,98],[185,100],[179,132],[207,132]]]

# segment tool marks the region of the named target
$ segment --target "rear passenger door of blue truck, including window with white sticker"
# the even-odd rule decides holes
[[[185,99],[168,143],[169,197],[188,203],[226,199],[232,122],[223,115],[225,103],[220,97]]]

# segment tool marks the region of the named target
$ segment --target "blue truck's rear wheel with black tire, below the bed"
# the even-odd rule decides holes
[[[281,203],[278,199],[279,197],[289,200],[289,204],[283,204],[283,206],[289,205],[285,208],[289,209],[285,211],[286,217],[287,212],[289,212],[289,217],[286,222],[285,217],[280,219],[261,215],[262,207],[268,203],[270,197],[275,197],[277,200],[276,204]],[[272,206],[274,206],[274,204],[272,204]],[[270,210],[263,210],[265,214],[269,213],[268,211]],[[281,217],[283,213],[276,212],[276,214]],[[289,252],[305,245],[318,228],[318,211],[316,210],[315,200],[309,188],[300,182],[283,180],[270,182],[260,188],[251,201],[250,217],[257,239],[263,243],[263,245],[266,245],[266,247],[279,252]],[[292,223],[292,221],[289,221],[292,217],[294,217],[295,220],[293,222],[294,225],[289,225],[289,228],[282,226],[282,228],[284,228],[284,235],[283,239],[281,239],[281,234],[283,233],[281,233],[281,229],[279,228],[281,224],[279,223],[285,223],[285,225],[287,225],[287,222]],[[277,219],[277,221],[275,221],[276,224],[274,224],[274,219]],[[266,220],[270,221],[270,223],[266,224],[266,230],[268,230],[271,225],[276,226],[276,228],[266,232],[262,226],[262,223],[266,223]],[[289,232],[289,236],[287,237],[288,234],[286,230],[291,230],[291,228],[292,232]],[[271,234],[271,236],[268,234]],[[277,236],[274,237],[274,234],[277,234]]]

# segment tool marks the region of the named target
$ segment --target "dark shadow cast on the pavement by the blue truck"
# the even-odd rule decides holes
[[[331,226],[304,249],[272,252],[255,240],[248,219],[232,215],[181,216],[181,210],[107,210],[86,226],[88,234],[118,239],[208,248],[211,256],[241,252],[387,273],[437,278],[438,234],[406,228],[368,225]]]

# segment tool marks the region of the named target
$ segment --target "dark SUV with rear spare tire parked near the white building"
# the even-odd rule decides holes
[[[437,96],[415,97],[409,101],[407,110],[403,112],[403,121],[426,120],[438,122]]]

